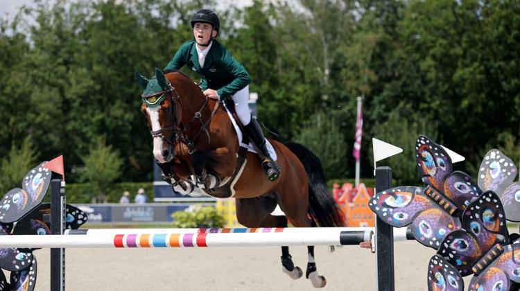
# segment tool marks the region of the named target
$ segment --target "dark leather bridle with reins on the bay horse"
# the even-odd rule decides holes
[[[157,98],[157,96],[159,96]],[[195,141],[200,136],[202,132],[205,132],[208,139],[208,144],[211,141],[211,138],[209,136],[209,132],[207,130],[207,125],[211,122],[211,118],[216,114],[216,111],[218,109],[218,105],[220,104],[220,100],[218,100],[215,103],[215,106],[213,107],[213,110],[211,110],[211,115],[207,119],[207,121],[202,121],[202,110],[205,109],[205,107],[208,106],[208,100],[209,98],[206,96],[204,104],[198,109],[195,114],[193,114],[193,117],[190,121],[188,121],[186,124],[182,123],[182,121],[179,121],[177,118],[177,111],[176,111],[176,103],[174,98],[179,101],[181,111],[182,111],[182,99],[180,97],[180,94],[175,90],[175,87],[173,87],[171,84],[166,85],[166,89],[154,94],[149,95],[141,95],[141,98],[143,98],[145,104],[148,106],[148,104],[153,106],[160,106],[165,98],[170,99],[170,105],[168,108],[166,108],[166,114],[172,114],[173,112],[173,125],[162,127],[159,130],[152,130],[150,128],[150,124],[148,124],[148,130],[150,131],[150,134],[152,135],[152,138],[160,137],[163,141],[166,141],[169,143],[173,148],[175,148],[175,144],[179,141],[186,144],[188,147],[188,153],[189,155],[192,155],[193,152],[196,152],[195,149]],[[150,102],[149,100],[155,100],[153,102]],[[192,137],[189,137],[187,134],[187,131],[189,130],[189,127],[193,125],[193,123],[196,123],[196,121],[200,122],[200,128],[196,134],[194,134]],[[171,139],[166,139],[164,136],[164,133],[166,132],[173,132],[171,134]],[[182,148],[182,147],[181,147]]]

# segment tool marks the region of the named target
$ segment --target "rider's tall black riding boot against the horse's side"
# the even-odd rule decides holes
[[[262,161],[262,168],[266,171],[266,175],[270,181],[275,181],[280,175],[281,169],[272,159],[267,150],[266,138],[263,137],[262,129],[257,119],[252,117],[251,122],[244,126],[245,133],[248,134],[250,141],[256,145]]]

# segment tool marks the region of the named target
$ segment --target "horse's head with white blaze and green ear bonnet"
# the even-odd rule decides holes
[[[147,79],[140,73],[135,77],[144,89],[141,98],[141,111],[148,119],[148,127],[153,136],[153,155],[159,163],[171,161],[174,156],[174,143],[181,110],[177,110],[178,100],[172,98],[174,89],[161,70],[155,69],[155,78]]]

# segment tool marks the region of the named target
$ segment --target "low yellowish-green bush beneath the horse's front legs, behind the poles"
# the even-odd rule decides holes
[[[195,206],[186,211],[176,211],[172,215],[173,227],[177,228],[221,228],[225,218],[213,206]]]

